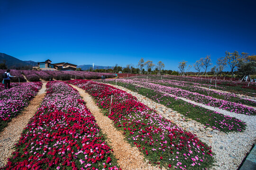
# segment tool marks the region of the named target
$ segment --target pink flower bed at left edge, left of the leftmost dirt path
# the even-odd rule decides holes
[[[0,131],[17,116],[41,89],[42,83],[22,83],[0,92]]]

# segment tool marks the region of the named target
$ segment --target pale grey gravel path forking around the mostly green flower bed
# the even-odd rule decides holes
[[[215,160],[217,161],[215,163],[216,166],[214,166],[212,170],[237,170],[244,157],[246,156],[246,153],[249,152],[252,145],[256,142],[256,116],[237,114],[178,97],[186,102],[191,102],[209,110],[215,110],[224,115],[229,115],[246,122],[247,128],[244,132],[231,132],[226,134],[210,128],[203,129],[199,122],[191,119],[187,119],[191,121],[184,121],[184,118],[181,118],[183,115],[180,115],[176,111],[173,111],[162,104],[156,103],[147,97],[142,96],[136,92],[132,92],[124,87],[117,85],[112,86],[136,96],[139,102],[142,102],[148,107],[155,109],[159,114],[165,116],[166,119],[170,119],[177,125],[183,127],[183,129],[191,131],[192,133],[196,134],[203,142],[209,144],[212,147],[213,153],[216,154]]]

